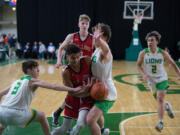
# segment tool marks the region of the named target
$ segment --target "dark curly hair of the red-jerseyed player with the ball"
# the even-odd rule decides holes
[[[75,53],[75,54],[80,53],[81,49],[77,45],[70,44],[65,48],[65,51],[66,51],[66,55],[70,55],[70,54],[73,54],[73,53]]]

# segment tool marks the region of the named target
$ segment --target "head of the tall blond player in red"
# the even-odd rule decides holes
[[[91,22],[91,19],[88,15],[86,14],[80,15],[79,23],[78,23],[80,31],[88,31],[90,22]]]

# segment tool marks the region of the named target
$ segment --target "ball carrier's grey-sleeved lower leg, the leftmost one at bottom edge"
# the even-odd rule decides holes
[[[55,128],[52,132],[51,135],[64,135],[71,127],[72,124],[72,119],[68,117],[64,117],[63,119],[63,124]]]

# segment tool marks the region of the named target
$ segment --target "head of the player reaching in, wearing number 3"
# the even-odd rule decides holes
[[[22,63],[22,70],[25,74],[38,78],[39,76],[39,64],[36,61],[29,60]]]

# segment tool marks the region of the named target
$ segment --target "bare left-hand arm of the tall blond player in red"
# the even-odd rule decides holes
[[[67,37],[63,41],[63,43],[59,46],[57,63],[55,65],[56,68],[59,68],[61,66],[62,52],[65,49],[65,47],[72,42],[72,40],[73,40],[73,34],[69,34],[69,35],[67,35]]]

